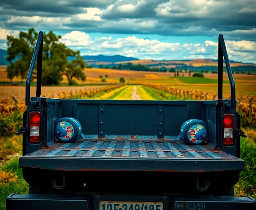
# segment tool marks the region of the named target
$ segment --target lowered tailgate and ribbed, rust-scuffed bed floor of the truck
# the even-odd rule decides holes
[[[244,161],[207,145],[170,141],[51,143],[20,158],[21,167],[67,171],[210,172],[243,170]]]

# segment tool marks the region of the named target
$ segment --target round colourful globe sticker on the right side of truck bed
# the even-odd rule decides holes
[[[188,130],[189,141],[200,144],[206,139],[207,130],[203,125],[192,125]]]

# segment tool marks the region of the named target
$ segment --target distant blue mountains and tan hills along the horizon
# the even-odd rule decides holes
[[[9,62],[6,61],[7,53],[6,50],[0,49],[0,65],[8,65]],[[119,65],[131,62],[135,64],[146,65],[147,67],[155,68],[175,68],[175,69],[187,69],[187,70],[207,70],[216,71],[218,69],[218,60],[214,59],[194,59],[194,60],[173,60],[173,61],[153,61],[153,60],[139,60],[134,57],[126,57],[121,55],[114,56],[89,56],[84,55],[84,60],[87,65],[92,65],[94,68],[104,68],[106,65],[112,68],[113,65]],[[71,57],[68,58],[69,61],[72,60]],[[243,63],[238,61],[230,61],[232,70],[234,71],[256,71],[256,64]]]

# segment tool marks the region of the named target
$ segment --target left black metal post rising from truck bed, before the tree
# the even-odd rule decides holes
[[[43,32],[38,33],[38,40],[34,49],[33,57],[30,63],[29,72],[26,80],[26,105],[38,105],[36,101],[30,101],[30,83],[34,73],[35,63],[38,61],[37,66],[37,91],[36,97],[41,95],[41,82],[42,82],[42,51],[43,51]]]

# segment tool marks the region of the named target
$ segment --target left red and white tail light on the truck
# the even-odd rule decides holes
[[[29,142],[39,143],[41,141],[41,113],[29,113]]]

